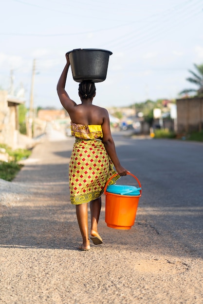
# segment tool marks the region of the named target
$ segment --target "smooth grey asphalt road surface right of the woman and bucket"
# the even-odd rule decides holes
[[[119,134],[114,140],[122,164],[141,182],[148,223],[172,236],[171,246],[177,241],[203,257],[203,143]]]

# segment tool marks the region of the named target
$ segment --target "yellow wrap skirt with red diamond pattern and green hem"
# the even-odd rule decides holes
[[[69,164],[71,203],[79,205],[99,198],[110,177],[113,163],[101,140],[76,139]],[[109,184],[120,178],[115,176]]]

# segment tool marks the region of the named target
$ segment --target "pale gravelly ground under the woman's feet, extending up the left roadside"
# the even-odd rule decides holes
[[[202,259],[157,232],[145,208],[130,230],[111,229],[103,196],[104,244],[77,250],[72,145],[45,140],[13,182],[0,180],[0,304],[202,304]]]

